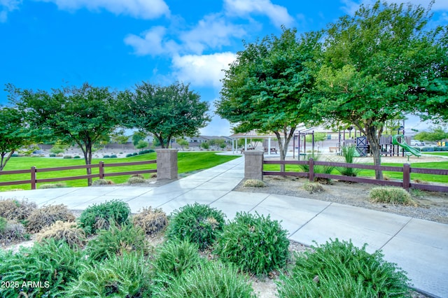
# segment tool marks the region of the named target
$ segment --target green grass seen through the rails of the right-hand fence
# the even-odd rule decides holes
[[[382,166],[402,166],[403,164],[381,164]],[[448,169],[448,160],[447,162],[421,162],[414,163],[412,167],[415,168],[423,168],[423,169]],[[263,166],[265,171],[280,171],[280,166],[277,164],[265,164]],[[300,167],[294,164],[286,164],[286,171],[301,171]],[[384,171],[384,176],[393,179],[402,179],[402,172],[391,172]],[[334,169],[332,171],[333,175],[340,175],[339,171]],[[364,177],[374,177],[374,170],[361,170],[358,173],[358,176]],[[412,180],[422,180],[427,182],[435,182],[435,183],[448,183],[447,175],[433,175],[433,174],[421,174],[421,173],[411,173]]]

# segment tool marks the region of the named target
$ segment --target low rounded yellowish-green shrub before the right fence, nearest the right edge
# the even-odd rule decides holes
[[[372,203],[400,204],[417,206],[411,195],[400,187],[380,186],[372,187],[369,194]]]

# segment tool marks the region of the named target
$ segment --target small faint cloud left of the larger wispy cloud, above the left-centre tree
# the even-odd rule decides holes
[[[178,51],[179,45],[174,41],[165,40],[167,29],[156,26],[145,31],[141,36],[129,34],[125,37],[125,43],[134,48],[137,55],[163,55],[173,54]]]

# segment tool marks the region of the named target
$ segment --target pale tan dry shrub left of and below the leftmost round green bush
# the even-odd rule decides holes
[[[50,225],[50,227],[43,228],[36,235],[37,242],[42,242],[50,238],[56,241],[64,241],[71,248],[83,247],[87,242],[85,232],[78,227],[76,222],[62,222],[60,220]]]

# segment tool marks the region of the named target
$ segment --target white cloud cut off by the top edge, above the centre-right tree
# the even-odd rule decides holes
[[[273,4],[270,0],[224,0],[224,5],[230,14],[239,16],[251,13],[267,15],[276,27],[280,27],[282,24],[291,27],[294,23],[293,17],[289,15],[286,8]]]

